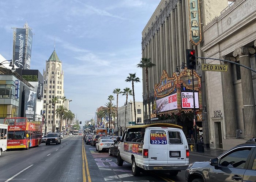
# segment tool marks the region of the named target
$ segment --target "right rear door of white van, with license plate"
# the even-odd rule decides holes
[[[168,164],[186,164],[186,143],[182,130],[170,129],[166,131]]]

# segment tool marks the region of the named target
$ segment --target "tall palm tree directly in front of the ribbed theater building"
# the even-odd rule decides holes
[[[138,68],[145,68],[145,76],[146,76],[146,90],[147,90],[147,103],[148,103],[148,114],[149,114],[149,119],[148,122],[150,122],[150,115],[151,115],[151,108],[150,108],[150,100],[149,100],[149,91],[148,91],[148,68],[152,68],[155,66],[154,63],[151,63],[151,58],[142,58],[140,60],[140,63],[137,64]]]

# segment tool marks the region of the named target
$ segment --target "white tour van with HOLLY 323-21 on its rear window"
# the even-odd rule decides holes
[[[186,170],[189,165],[188,143],[182,127],[169,123],[154,123],[127,127],[118,145],[117,165],[132,164],[132,174],[144,170],[161,170],[171,175]]]

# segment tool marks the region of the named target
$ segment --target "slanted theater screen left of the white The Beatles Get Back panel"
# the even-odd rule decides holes
[[[177,93],[158,99],[156,103],[157,113],[177,109]]]

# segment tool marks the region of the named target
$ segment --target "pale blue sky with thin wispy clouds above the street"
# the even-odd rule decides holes
[[[95,117],[115,88],[132,88],[129,73],[142,81],[142,31],[160,0],[1,0],[0,54],[12,59],[12,27],[32,28],[31,69],[43,74],[54,50],[64,71],[64,96],[80,121]],[[142,83],[135,83],[142,102]],[[116,103],[116,95],[114,95]],[[132,96],[128,96],[128,101]],[[125,96],[118,97],[118,106]]]

